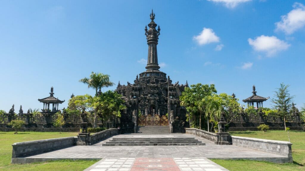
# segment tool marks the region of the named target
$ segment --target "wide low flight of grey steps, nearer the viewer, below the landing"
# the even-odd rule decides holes
[[[195,138],[112,138],[102,146],[206,145]]]

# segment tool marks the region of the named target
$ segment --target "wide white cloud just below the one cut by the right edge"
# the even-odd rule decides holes
[[[284,51],[288,49],[288,47],[290,46],[290,44],[278,39],[275,36],[265,35],[256,37],[254,40],[249,38],[248,42],[249,45],[251,45],[255,51],[265,52],[269,57],[274,55],[278,51]]]

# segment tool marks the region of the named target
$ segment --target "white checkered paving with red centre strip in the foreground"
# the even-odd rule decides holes
[[[228,171],[204,157],[183,158],[106,158],[85,171]]]

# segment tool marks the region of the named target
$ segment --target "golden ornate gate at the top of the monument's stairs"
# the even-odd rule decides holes
[[[140,116],[138,119],[138,126],[168,126],[168,119],[165,115],[159,117],[159,115],[152,116]]]

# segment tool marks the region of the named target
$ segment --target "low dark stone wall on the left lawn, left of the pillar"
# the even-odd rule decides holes
[[[49,152],[60,148],[70,147],[76,144],[77,137],[52,138],[36,141],[16,142],[13,146],[13,158],[36,155]]]

